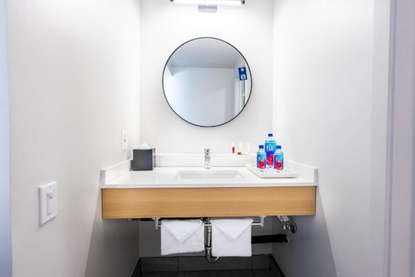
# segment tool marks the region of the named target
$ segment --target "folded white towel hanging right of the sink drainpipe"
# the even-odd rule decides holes
[[[252,256],[251,223],[244,220],[211,220],[212,255],[216,257]]]

